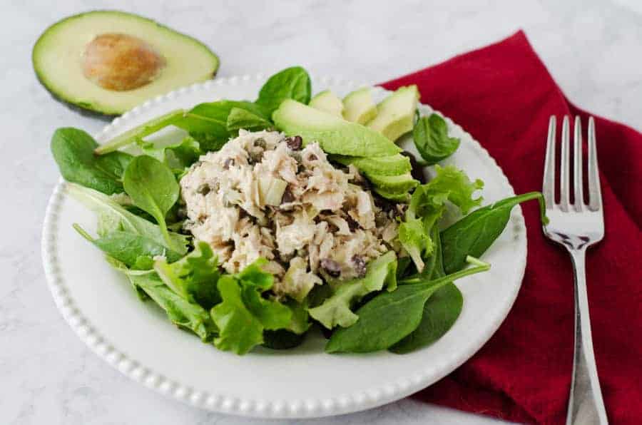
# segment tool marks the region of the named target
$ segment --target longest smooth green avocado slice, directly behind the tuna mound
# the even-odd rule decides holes
[[[272,120],[285,134],[300,135],[303,143],[318,142],[327,153],[372,158],[401,151],[399,146],[371,128],[350,123],[292,99],[281,103],[272,113]]]

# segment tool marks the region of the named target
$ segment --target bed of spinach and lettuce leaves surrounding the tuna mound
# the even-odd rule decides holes
[[[403,96],[414,96],[404,89]],[[417,98],[409,111],[410,128],[407,121],[397,121],[381,133],[390,137],[412,130],[422,157],[419,162],[434,165],[434,177],[424,184],[411,180],[410,185],[377,188],[379,180],[382,185],[394,181],[385,179],[389,176],[384,168],[384,178],[373,174],[379,165],[395,163],[391,173],[399,175],[407,173],[407,168],[404,158],[395,156],[396,145],[389,148],[387,139],[357,122],[365,116],[372,118],[377,108],[361,101],[367,94],[364,89],[354,94],[350,104],[360,109],[350,111],[350,116],[361,118],[348,124],[319,112],[323,115],[316,118],[327,114],[328,122],[336,123],[343,133],[312,128],[310,134],[332,154],[330,158],[360,168],[374,190],[380,189],[379,195],[408,204],[398,219],[398,238],[407,256],[397,257],[391,250],[367,264],[363,277],[330,280],[304,299],[276,299],[270,292],[273,277],[262,269],[266,260],[257,260],[230,275],[220,269],[207,243],[183,233],[178,180],[200,155],[219,150],[240,129],[298,134],[287,125],[279,126],[273,117],[282,116],[282,105],[309,108],[305,105],[311,99],[310,77],[300,67],[269,78],[256,101],[223,100],[201,103],[189,111],[172,111],[103,145],[77,128],[56,130],[51,150],[69,182],[68,193],[98,217],[96,237],[79,225],[74,228],[128,277],[142,300],[151,299],[171,322],[218,349],[245,354],[259,344],[273,349],[295,347],[312,326],[330,329],[329,353],[389,349],[402,354],[425,347],[442,337],[462,311],[462,293],[453,282],[489,270],[490,265],[479,258],[506,227],[511,209],[526,200],[537,199],[540,204],[543,200],[534,192],[479,208],[481,197],[475,198],[474,193],[483,183],[469,180],[452,165],[436,165],[457,150],[459,139],[448,135],[441,116],[415,115]],[[314,103],[320,108],[329,104],[328,111],[340,111],[341,101],[337,103],[330,96],[332,93],[323,92]],[[284,102],[287,100],[290,103]],[[345,101],[348,104],[348,98]],[[393,103],[388,101],[385,108],[397,108]],[[382,109],[379,106],[378,110]],[[143,140],[167,126],[182,128],[189,135],[172,145],[157,146]],[[295,127],[309,130],[305,123]],[[341,143],[335,143],[342,135],[354,138],[355,134],[362,143],[357,148],[347,146],[344,152]],[[377,158],[367,156],[371,139],[385,148]],[[138,145],[141,155],[119,150],[132,144]],[[350,140],[345,145],[350,145]],[[463,217],[440,230],[447,208],[459,210]]]

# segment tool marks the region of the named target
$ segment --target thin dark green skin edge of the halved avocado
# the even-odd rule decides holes
[[[31,65],[34,68],[34,73],[36,74],[36,79],[38,82],[43,86],[46,91],[49,92],[51,95],[51,98],[54,99],[54,101],[57,101],[58,103],[61,103],[63,106],[66,106],[67,108],[71,109],[71,111],[80,113],[82,116],[88,116],[91,118],[98,118],[101,119],[102,121],[111,121],[113,118],[116,118],[118,116],[121,116],[121,113],[109,113],[105,111],[101,111],[100,109],[94,107],[91,103],[73,103],[72,101],[68,101],[66,98],[64,98],[64,95],[61,93],[56,93],[53,89],[49,88],[46,83],[46,78],[44,78],[44,72],[43,70],[39,69],[36,66],[36,46],[38,45],[39,41],[43,39],[44,36],[51,30],[54,29],[55,26],[58,25],[63,25],[67,23],[68,21],[71,21],[73,19],[79,19],[83,16],[90,15],[90,14],[96,14],[96,13],[109,13],[109,14],[122,14],[123,16],[135,16],[137,19],[141,19],[142,21],[148,21],[152,24],[155,24],[156,26],[160,27],[163,30],[167,31],[172,31],[173,33],[180,34],[180,36],[184,36],[187,39],[191,39],[195,41],[196,43],[199,43],[202,45],[204,48],[206,48],[209,53],[216,58],[217,61],[217,66],[214,69],[212,76],[209,79],[212,79],[216,76],[216,73],[218,72],[218,69],[220,68],[220,58],[216,53],[214,53],[208,46],[206,46],[204,43],[199,41],[198,39],[195,39],[192,36],[188,36],[187,34],[181,33],[180,31],[176,31],[175,29],[170,28],[169,26],[160,24],[153,19],[146,18],[144,16],[138,15],[138,14],[131,14],[129,12],[125,11],[117,11],[117,10],[111,10],[111,9],[96,9],[92,11],[86,11],[81,14],[75,14],[71,16],[67,16],[66,18],[61,19],[60,21],[56,21],[54,24],[51,26],[48,26],[42,34],[38,37],[36,40],[36,43],[34,43],[34,48],[31,49]],[[178,88],[177,88],[178,89]],[[146,101],[147,99],[141,99],[141,103]]]

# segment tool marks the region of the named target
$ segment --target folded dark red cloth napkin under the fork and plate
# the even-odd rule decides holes
[[[580,115],[586,140],[589,114],[566,99],[521,31],[382,86],[408,84],[489,150],[516,193],[541,190],[549,116]],[[587,257],[593,345],[608,419],[639,424],[642,134],[603,118],[596,118],[596,134],[606,235]],[[472,359],[414,398],[510,421],[563,424],[574,341],[571,260],[542,235],[536,203],[522,208],[529,254],[514,307]]]

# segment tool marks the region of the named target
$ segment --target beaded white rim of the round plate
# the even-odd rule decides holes
[[[147,111],[158,104],[171,101],[178,96],[185,96],[185,94],[193,93],[201,90],[210,90],[215,86],[235,86],[238,83],[248,81],[264,81],[265,75],[257,73],[253,76],[231,76],[228,78],[216,78],[215,80],[205,81],[201,83],[194,83],[190,86],[178,88],[175,91],[170,91],[165,95],[156,96],[140,106],[136,106],[131,111],[124,113],[122,116],[115,118],[111,123],[103,127],[101,131],[96,133],[96,140],[101,140],[118,127],[131,120],[131,118]],[[353,86],[354,88],[360,86],[370,86],[369,84],[359,84],[352,80],[337,77],[315,77],[312,76],[312,83],[319,84],[322,87],[332,85],[346,85]],[[380,86],[373,87],[377,91],[386,91]],[[420,108],[427,111],[435,111],[427,104],[420,104]],[[439,113],[444,117],[449,127],[457,128],[461,131],[469,141],[474,145],[475,150],[484,157],[494,172],[501,176],[501,188],[510,195],[514,195],[514,188],[510,184],[508,178],[504,174],[504,170],[496,163],[496,160],[488,153],[488,151],[466,130],[464,130],[457,123],[454,123],[450,118]],[[154,391],[169,396],[178,401],[224,414],[236,414],[240,416],[249,416],[257,418],[274,418],[274,419],[296,419],[296,418],[314,418],[322,416],[334,416],[338,414],[347,414],[355,411],[362,411],[371,409],[383,404],[397,401],[414,392],[426,388],[434,384],[439,379],[450,374],[454,369],[461,366],[470,357],[472,357],[481,347],[488,342],[492,335],[496,332],[506,316],[509,314],[515,299],[524,280],[524,272],[526,270],[526,257],[527,257],[527,234],[524,215],[521,213],[521,206],[517,205],[511,217],[513,217],[514,224],[519,226],[523,238],[521,238],[521,246],[519,255],[519,265],[517,266],[517,275],[519,277],[518,285],[515,285],[514,292],[510,295],[509,302],[506,303],[503,309],[500,309],[495,317],[491,318],[491,325],[474,337],[474,343],[470,344],[469,349],[465,352],[460,352],[458,356],[449,359],[446,367],[441,367],[438,372],[434,371],[434,367],[427,368],[414,373],[412,377],[401,377],[392,384],[388,384],[383,389],[374,388],[369,391],[357,392],[354,394],[340,394],[333,399],[307,399],[290,400],[290,401],[265,401],[250,398],[240,398],[235,396],[226,396],[225,394],[212,394],[206,391],[195,390],[190,387],[188,383],[175,382],[163,376],[163,374],[156,372],[143,364],[140,364],[136,359],[129,358],[126,354],[121,352],[116,347],[112,347],[102,336],[98,329],[95,329],[88,320],[83,317],[81,310],[76,307],[74,300],[66,290],[63,277],[61,276],[60,267],[57,264],[58,254],[56,252],[56,230],[58,228],[57,218],[58,210],[60,209],[61,202],[64,196],[64,188],[66,182],[63,178],[58,179],[53,193],[47,203],[43,228],[41,237],[41,257],[44,265],[44,274],[46,277],[49,290],[54,298],[56,307],[61,312],[63,318],[68,325],[73,329],[79,339],[84,342],[98,357],[110,364],[113,368],[124,374],[126,377],[133,379],[136,382],[147,386]]]

